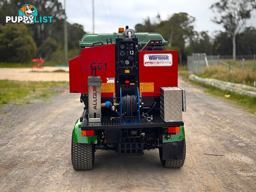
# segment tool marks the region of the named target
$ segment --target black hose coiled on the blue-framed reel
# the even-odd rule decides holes
[[[135,95],[122,96],[122,108],[126,116],[131,116],[132,113],[138,110],[138,99]]]

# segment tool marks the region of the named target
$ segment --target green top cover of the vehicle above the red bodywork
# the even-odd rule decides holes
[[[106,39],[112,43],[116,42],[117,35],[122,37],[122,33],[101,33],[101,34],[85,34],[82,37],[81,42],[79,43],[80,47],[91,47],[95,42],[103,42],[104,45],[107,44]],[[139,43],[142,45],[139,49],[144,47],[149,40],[162,40],[162,45],[167,45],[168,42],[164,40],[161,34],[159,33],[135,33],[136,37],[139,39]],[[134,36],[133,36],[134,37]]]

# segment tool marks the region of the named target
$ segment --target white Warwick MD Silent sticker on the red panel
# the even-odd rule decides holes
[[[172,54],[144,54],[144,66],[172,66]]]

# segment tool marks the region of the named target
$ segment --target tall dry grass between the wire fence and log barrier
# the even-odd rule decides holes
[[[222,81],[240,83],[253,86],[256,81],[256,71],[230,69],[225,66],[210,66],[205,68],[204,72],[196,74],[202,78],[213,78]]]

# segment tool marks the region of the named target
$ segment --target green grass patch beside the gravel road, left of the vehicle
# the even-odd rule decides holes
[[[2,104],[28,104],[33,99],[46,101],[50,96],[62,92],[61,89],[67,86],[68,82],[0,80],[0,106]]]

